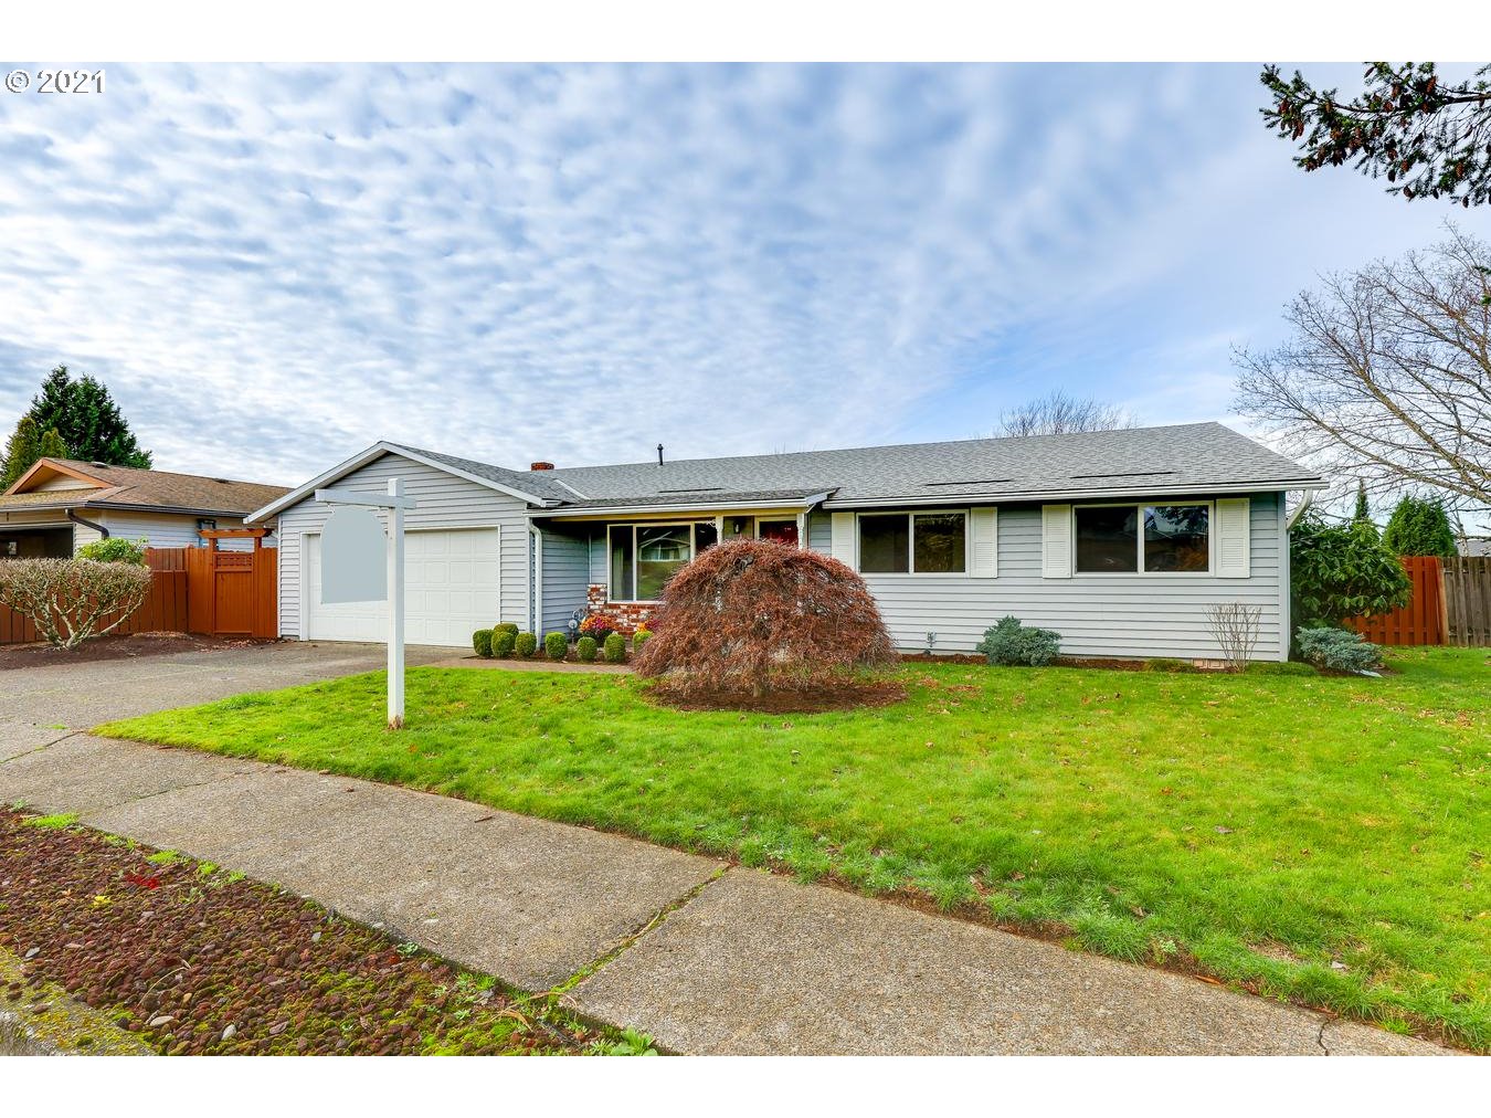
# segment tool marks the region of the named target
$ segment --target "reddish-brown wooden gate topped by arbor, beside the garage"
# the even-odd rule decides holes
[[[279,637],[279,549],[265,528],[213,528],[207,547],[186,549],[186,628],[213,637]],[[219,540],[253,540],[252,552],[222,552]]]

